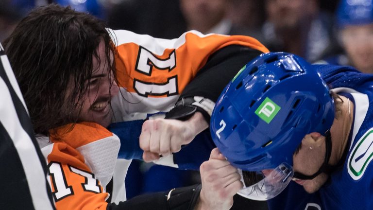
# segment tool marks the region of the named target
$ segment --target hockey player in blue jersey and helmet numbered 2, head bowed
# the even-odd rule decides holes
[[[210,125],[241,170],[238,194],[272,210],[373,209],[372,85],[370,74],[288,53],[248,63]]]

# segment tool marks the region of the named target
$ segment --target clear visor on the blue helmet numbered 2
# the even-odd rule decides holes
[[[238,169],[243,189],[237,194],[252,200],[269,200],[280,194],[291,181],[294,171],[287,163],[262,172],[245,172]]]

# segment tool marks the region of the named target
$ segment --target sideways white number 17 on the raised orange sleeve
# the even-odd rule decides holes
[[[173,70],[176,67],[175,50],[169,54],[168,58],[160,59],[149,50],[140,46],[137,53],[136,71],[151,76],[153,67],[156,67],[159,70],[168,70],[169,72]],[[139,95],[145,97],[148,95],[177,95],[179,92],[177,75],[169,77],[165,83],[145,82],[135,79],[134,89]]]

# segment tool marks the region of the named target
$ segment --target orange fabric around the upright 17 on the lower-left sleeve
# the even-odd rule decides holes
[[[49,167],[55,163],[63,170],[66,185],[72,189],[72,193],[56,201],[57,210],[106,210],[105,201],[108,193],[103,192],[101,183],[96,180],[95,183],[100,192],[85,190],[83,185],[86,184],[84,175],[79,175],[71,171],[71,168],[92,174],[89,167],[85,164],[85,158],[76,150],[77,147],[83,146],[90,142],[112,136],[106,128],[96,123],[75,124],[72,130],[71,124],[62,126],[57,129],[56,134],[51,136],[54,142],[52,152],[48,155]],[[69,131],[69,132],[66,132]],[[56,138],[58,136],[58,138]],[[58,167],[57,167],[58,168]],[[51,168],[50,168],[51,170]],[[55,183],[61,182],[61,178],[56,174],[51,175],[51,186],[53,194],[56,193]],[[56,180],[60,179],[60,180]],[[62,187],[64,189],[64,187]],[[55,196],[55,195],[54,195]]]

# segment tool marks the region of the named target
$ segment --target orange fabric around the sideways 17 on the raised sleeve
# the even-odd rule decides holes
[[[155,55],[159,60],[167,59],[172,51],[176,54],[176,67],[172,70],[158,70],[153,67],[152,74],[146,75],[136,71],[139,46],[136,43],[125,43],[117,47],[117,77],[119,86],[127,91],[136,92],[134,79],[145,83],[166,83],[168,78],[177,75],[178,90],[181,93],[206,63],[209,55],[228,45],[243,45],[263,53],[269,52],[259,41],[242,35],[208,35],[200,37],[188,32],[186,41],[177,49],[166,49],[162,55]],[[166,97],[150,96],[150,97]]]

